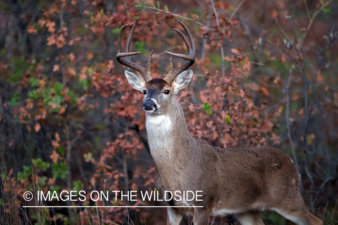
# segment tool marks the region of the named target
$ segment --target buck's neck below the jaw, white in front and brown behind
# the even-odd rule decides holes
[[[146,128],[151,156],[159,169],[173,162],[184,162],[190,155],[191,135],[187,129],[184,112],[176,98],[169,113],[146,114]]]

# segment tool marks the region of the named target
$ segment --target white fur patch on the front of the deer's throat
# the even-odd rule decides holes
[[[155,115],[147,116],[146,122],[148,143],[152,157],[161,160],[161,158],[171,158],[172,139],[170,132],[172,123],[169,116]]]

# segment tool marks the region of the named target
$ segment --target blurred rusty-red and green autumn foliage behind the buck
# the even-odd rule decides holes
[[[168,72],[164,51],[187,53],[175,19],[194,36],[194,78],[177,94],[191,135],[222,147],[280,148],[298,168],[310,212],[337,224],[333,0],[0,1],[1,224],[165,223],[161,208],[95,207],[155,201],[23,199],[26,190],[153,190],[143,94],[115,60],[118,33],[136,18],[131,51],[142,54],[131,60],[145,65],[154,50],[153,77]],[[272,212],[262,218],[291,224]],[[210,223],[238,224],[232,216]]]

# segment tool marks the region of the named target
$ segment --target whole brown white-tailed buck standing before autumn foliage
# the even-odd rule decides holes
[[[165,78],[152,78],[150,52],[146,67],[131,62],[129,57],[141,52],[129,52],[138,19],[131,28],[121,52],[124,25],[117,40],[116,59],[127,69],[128,83],[142,91],[143,110],[150,154],[155,162],[155,187],[166,191],[202,191],[198,199],[168,201],[167,225],[178,225],[183,216],[193,217],[194,225],[209,224],[209,216],[235,215],[242,225],[263,225],[260,212],[272,210],[297,225],[322,225],[306,208],[300,194],[300,175],[291,158],[281,150],[260,146],[221,148],[197,140],[188,131],[184,112],[175,95],[192,79],[195,43],[187,26],[177,20],[187,37],[183,38],[189,55],[172,53]],[[189,43],[190,42],[190,43]],[[173,68],[172,56],[188,60]],[[167,198],[169,199],[169,198]]]

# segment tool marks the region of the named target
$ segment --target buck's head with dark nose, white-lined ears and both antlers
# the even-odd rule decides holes
[[[121,40],[123,31],[128,25],[124,25],[122,27],[117,41],[116,60],[125,66],[135,69],[136,71],[140,72],[143,75],[142,77],[130,71],[127,70],[124,71],[124,74],[127,77],[129,84],[136,90],[140,90],[143,92],[144,94],[143,109],[147,113],[152,115],[163,114],[167,110],[169,110],[171,105],[171,99],[174,98],[174,96],[180,89],[186,87],[192,79],[193,71],[192,69],[188,68],[195,62],[194,39],[187,26],[184,25],[184,23],[182,23],[181,21],[177,20],[177,22],[179,22],[187,32],[191,45],[189,44],[187,37],[181,31],[175,28],[174,30],[176,30],[182,36],[187,46],[189,55],[172,53],[171,51],[166,52],[170,54],[169,72],[164,79],[163,78],[153,79],[151,76],[151,55],[153,51],[151,51],[149,55],[146,67],[137,65],[129,60],[129,56],[141,53],[141,52],[129,52],[131,38],[134,33],[137,22],[138,19],[135,21],[134,25],[131,28],[124,53],[121,53]],[[180,67],[174,69],[172,63],[172,56],[183,58],[188,61],[183,65],[181,65]]]

